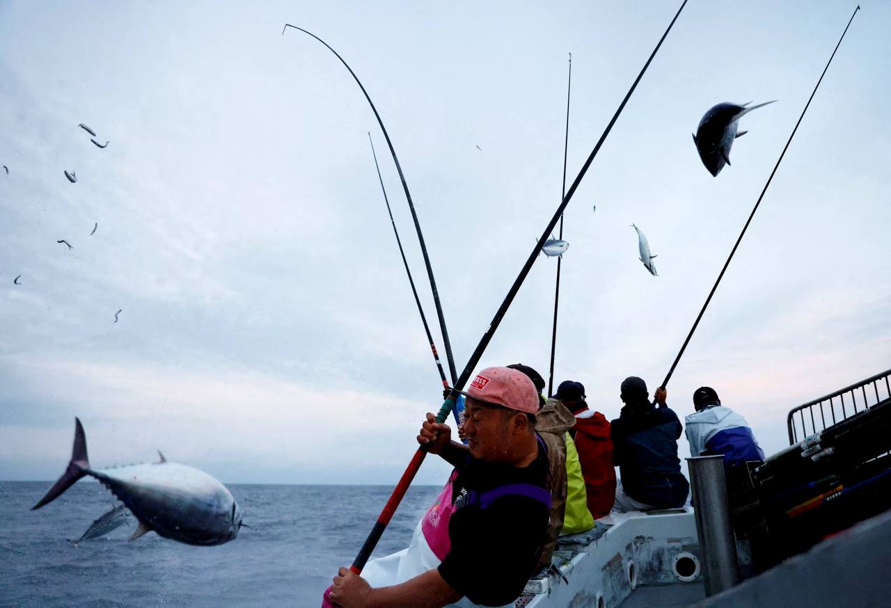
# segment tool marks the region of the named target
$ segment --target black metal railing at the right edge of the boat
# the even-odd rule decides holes
[[[820,433],[858,411],[870,409],[879,401],[891,397],[891,381],[888,377],[891,377],[891,369],[791,409],[786,417],[789,445],[795,445],[805,437]]]

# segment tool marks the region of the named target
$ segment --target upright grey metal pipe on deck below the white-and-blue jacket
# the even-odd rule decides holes
[[[690,468],[706,596],[712,596],[740,582],[740,563],[730,522],[723,456],[687,458],[687,466]]]

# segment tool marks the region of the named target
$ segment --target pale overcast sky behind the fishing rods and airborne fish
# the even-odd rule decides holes
[[[368,131],[435,321],[421,253],[361,91],[283,24],[380,110],[460,370],[560,203],[568,53],[571,182],[678,4],[0,2],[0,479],[61,474],[79,416],[94,466],[396,482],[441,386]],[[568,207],[556,382],[609,418],[623,378],[658,385],[855,4],[691,0]],[[768,453],[891,367],[888,31],[862,3],[668,386],[682,418],[714,386]],[[703,113],[773,99],[708,174]],[[547,376],[555,271],[480,368]]]

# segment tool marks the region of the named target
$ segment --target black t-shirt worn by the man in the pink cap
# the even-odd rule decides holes
[[[515,468],[468,457],[453,484],[451,550],[439,574],[471,602],[509,604],[523,592],[542,554],[551,516],[547,454]]]

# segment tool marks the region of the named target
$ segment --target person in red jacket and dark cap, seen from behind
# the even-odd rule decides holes
[[[569,434],[576,443],[582,466],[588,511],[594,519],[609,515],[616,500],[616,469],[613,467],[609,421],[601,412],[588,409],[581,382],[561,382],[554,398],[576,417],[576,425],[569,429]]]

